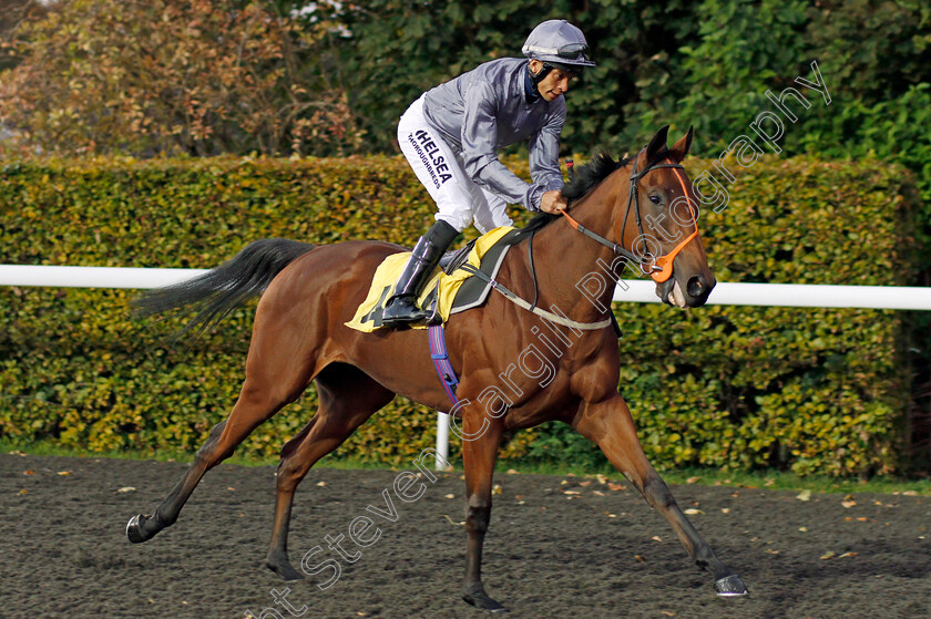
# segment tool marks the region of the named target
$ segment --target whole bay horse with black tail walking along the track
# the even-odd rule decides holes
[[[559,309],[573,324],[603,328],[569,328],[574,341],[553,336],[542,345],[540,336],[531,333],[541,333],[540,327],[548,319],[494,293],[484,306],[453,314],[446,324],[450,361],[461,378],[460,402],[481,402],[490,385],[507,382],[511,386],[510,395],[499,395],[499,404],[507,400],[501,410],[482,410],[473,404],[458,411],[468,530],[462,596],[480,609],[504,610],[485,592],[481,579],[492,473],[502,434],[551,420],[569,423],[601,447],[649,505],[666,517],[692,559],[712,572],[718,595],[747,595],[740,578],[715,556],[683,514],[640,444],[631,411],[618,393],[622,360],[617,339],[605,320],[614,282],[603,287],[595,299],[580,295],[576,288],[596,270],[596,264],[615,269],[621,256],[622,264],[636,259],[637,266],[651,271],[657,281],[656,293],[664,302],[694,308],[707,300],[715,278],[696,221],[665,217],[675,215],[669,208],[677,199],[697,208],[690,182],[679,165],[692,145],[692,128],[672,148],[666,147],[667,131],[668,126],[661,128],[633,159],[615,163],[600,155],[582,166],[563,190],[571,200],[572,217],[538,215],[529,226],[535,227],[534,234],[512,248],[497,276],[514,295],[534,298],[539,307]],[[635,251],[637,241],[649,245],[642,215],[647,223],[664,221],[667,237],[661,240],[653,236],[654,245],[659,246],[656,251]],[[697,214],[693,216],[697,219]],[[535,256],[528,250],[533,236]],[[145,541],[174,524],[203,475],[316,380],[319,410],[282,450],[266,560],[286,580],[303,578],[288,558],[287,537],[295,489],[310,467],[396,394],[431,409],[449,407],[434,373],[426,330],[362,333],[345,326],[365,299],[376,267],[402,250],[379,241],[317,247],[265,239],[204,276],[142,297],[142,308],[150,312],[201,308],[191,324],[205,326],[215,323],[245,299],[260,295],[238,400],[155,512],[130,520],[130,541]],[[666,279],[657,277],[659,271],[665,271]],[[566,329],[553,323],[546,327],[552,333]],[[539,380],[539,373],[531,376],[515,370],[514,363],[529,344],[535,344],[541,359],[556,369],[544,381]]]

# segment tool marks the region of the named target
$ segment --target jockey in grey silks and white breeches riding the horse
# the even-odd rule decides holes
[[[398,124],[398,143],[417,178],[437,203],[437,223],[420,237],[382,313],[399,327],[429,318],[416,305],[452,240],[474,221],[484,234],[512,224],[507,205],[556,214],[562,197],[560,132],[562,96],[573,78],[595,63],[582,31],[565,20],[533,29],[523,45],[528,60],[502,58],[480,64],[415,101]],[[525,183],[498,151],[529,141]]]

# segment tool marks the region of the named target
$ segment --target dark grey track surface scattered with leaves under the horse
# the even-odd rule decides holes
[[[317,545],[324,553],[308,566],[340,561],[339,579],[320,590],[332,570],[285,584],[264,567],[272,467],[215,468],[177,524],[130,544],[126,520],[151,513],[184,470],[0,455],[0,617],[487,616],[459,598],[466,529],[458,473],[426,479],[422,497],[405,503],[392,489],[398,473],[311,471],[298,489],[289,549],[298,569]],[[495,483],[483,576],[513,618],[931,616],[931,497],[857,494],[845,507],[842,495],[806,502],[788,492],[673,487],[683,508],[700,512],[693,523],[750,589],[749,598],[728,600],[714,596],[710,576],[626,482],[611,489],[618,484],[497,474]],[[393,523],[366,510],[389,509],[386,489]],[[366,548],[344,539],[347,553],[361,553],[349,565],[324,536],[348,536],[362,515],[381,536]],[[270,594],[286,588],[291,610]]]

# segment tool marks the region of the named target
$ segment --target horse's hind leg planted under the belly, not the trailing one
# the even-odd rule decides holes
[[[300,433],[282,450],[278,464],[275,525],[266,565],[285,580],[303,578],[288,559],[288,527],[297,485],[314,464],[336,450],[395,394],[360,370],[342,363],[317,376],[320,407]]]

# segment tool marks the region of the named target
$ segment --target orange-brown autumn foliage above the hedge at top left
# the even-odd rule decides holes
[[[18,28],[0,117],[59,153],[338,153],[359,135],[307,62],[319,28],[252,0],[66,0]]]

